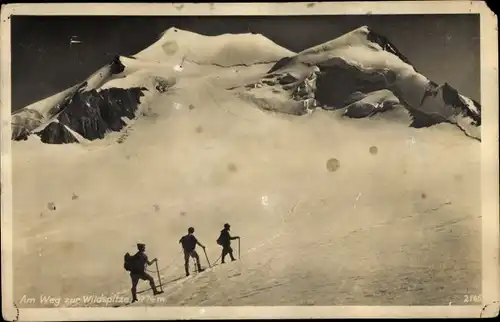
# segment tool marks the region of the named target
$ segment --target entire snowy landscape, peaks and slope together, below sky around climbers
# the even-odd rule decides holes
[[[130,296],[123,255],[140,241],[164,293],[132,306],[481,294],[480,107],[370,32],[295,54],[261,35],[172,28],[14,114],[15,299]],[[241,259],[178,279],[187,228],[213,263],[225,222]]]

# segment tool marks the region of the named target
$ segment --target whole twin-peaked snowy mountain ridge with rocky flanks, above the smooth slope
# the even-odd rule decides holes
[[[265,64],[274,66],[236,70]],[[157,95],[175,91],[180,79],[199,82],[216,73],[224,76],[212,77],[211,86],[264,110],[303,115],[323,108],[364,118],[402,109],[409,126],[446,122],[480,140],[481,106],[450,84],[427,79],[366,26],[297,54],[258,34],[203,36],[170,28],[133,57],[118,56],[82,83],[14,113],[12,139],[102,139],[122,131]]]

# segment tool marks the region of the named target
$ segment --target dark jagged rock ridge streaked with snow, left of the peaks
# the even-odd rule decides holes
[[[12,115],[12,139],[26,140],[36,134],[44,143],[63,144],[83,139],[104,138],[110,131],[126,125],[124,117],[133,119],[145,87],[106,88],[101,86],[126,67],[116,56],[86,81],[46,100],[30,105]]]

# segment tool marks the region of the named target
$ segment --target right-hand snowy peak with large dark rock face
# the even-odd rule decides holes
[[[247,86],[247,92],[269,101],[269,86],[274,96],[281,96],[277,101],[284,102],[271,107],[280,112],[300,115],[322,107],[361,118],[403,108],[411,126],[448,122],[480,139],[479,103],[447,83],[439,86],[427,79],[387,38],[367,26],[282,58],[258,83]],[[289,99],[302,107],[291,108]]]

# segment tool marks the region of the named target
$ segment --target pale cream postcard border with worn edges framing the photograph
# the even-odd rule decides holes
[[[160,14],[161,13],[161,14]],[[11,178],[11,15],[359,15],[478,13],[481,21],[482,110],[482,298],[478,306],[331,306],[331,307],[143,307],[17,309],[13,300]],[[381,1],[321,3],[217,4],[9,4],[1,12],[1,232],[2,311],[7,320],[135,320],[324,317],[491,317],[498,314],[499,162],[498,22],[483,1]]]

